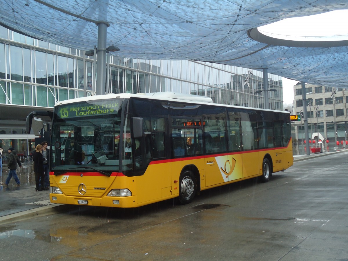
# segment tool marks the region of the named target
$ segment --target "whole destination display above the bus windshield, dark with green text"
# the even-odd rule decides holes
[[[58,118],[100,116],[117,113],[120,108],[119,100],[98,100],[79,103],[58,105],[56,114]]]

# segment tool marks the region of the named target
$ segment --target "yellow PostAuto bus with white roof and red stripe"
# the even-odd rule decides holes
[[[170,92],[58,102],[50,149],[50,201],[88,206],[187,204],[293,165],[289,112]]]

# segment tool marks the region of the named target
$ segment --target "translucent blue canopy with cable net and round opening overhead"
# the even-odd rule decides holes
[[[241,66],[348,88],[348,41],[286,41],[254,28],[348,9],[346,0],[0,0],[0,24],[54,44],[90,50],[107,24],[113,55]],[[253,30],[252,30],[253,29]],[[346,87],[347,86],[347,87]]]

